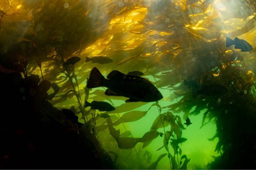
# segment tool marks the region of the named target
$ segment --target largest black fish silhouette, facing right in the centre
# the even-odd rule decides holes
[[[107,87],[109,89],[105,91],[106,95],[129,97],[126,102],[154,102],[163,98],[158,89],[145,78],[125,75],[117,70],[109,73],[107,78],[94,67],[87,88]]]

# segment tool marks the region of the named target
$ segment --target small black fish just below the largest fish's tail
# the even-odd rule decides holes
[[[92,103],[85,101],[84,108],[87,108],[87,107],[91,107],[91,110],[99,110],[99,111],[116,110],[111,104],[107,102],[98,102],[98,101],[92,101]]]

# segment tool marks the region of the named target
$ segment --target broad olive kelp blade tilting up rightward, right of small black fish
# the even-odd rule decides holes
[[[141,119],[142,117],[144,117],[146,114],[147,114],[147,111],[139,111],[139,110],[129,111],[123,114],[122,117],[120,117],[116,122],[114,122],[113,126],[117,126],[125,122],[135,122]]]

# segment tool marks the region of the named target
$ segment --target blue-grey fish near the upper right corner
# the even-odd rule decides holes
[[[241,49],[242,52],[247,52],[252,50],[252,46],[245,40],[241,40],[239,38],[235,38],[234,41],[227,37],[226,38],[226,47],[231,45],[235,45],[235,49]]]

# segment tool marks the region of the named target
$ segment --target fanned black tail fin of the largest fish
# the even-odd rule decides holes
[[[95,87],[101,87],[103,86],[104,76],[100,73],[100,71],[94,67],[90,73],[89,80],[87,82],[86,87],[88,89],[95,88]]]

